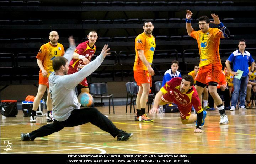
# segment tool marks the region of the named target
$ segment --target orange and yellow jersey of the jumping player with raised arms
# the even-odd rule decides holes
[[[220,29],[209,28],[205,33],[203,33],[201,30],[193,30],[190,35],[197,40],[200,54],[200,67],[209,65],[211,63],[221,64],[219,44],[220,38],[222,38],[222,31]]]

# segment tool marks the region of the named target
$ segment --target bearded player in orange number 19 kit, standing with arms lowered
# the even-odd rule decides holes
[[[146,113],[146,103],[150,87],[152,86],[151,76],[155,75],[152,69],[153,55],[155,51],[155,38],[152,36],[154,29],[153,23],[146,20],[143,24],[144,32],[135,39],[136,57],[133,65],[134,79],[139,86],[139,92],[136,98],[137,115],[135,121],[152,122]]]

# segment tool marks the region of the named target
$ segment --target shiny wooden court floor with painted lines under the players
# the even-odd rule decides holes
[[[23,117],[19,110],[16,118],[1,116],[1,153],[256,153],[255,108],[226,110],[227,125],[219,124],[218,111],[208,111],[204,133],[194,133],[194,124],[182,125],[179,113],[152,114],[149,116],[154,122],[144,123],[133,121],[135,114],[125,113],[125,106],[115,106],[116,114],[108,114],[108,106],[98,109],[119,129],[134,136],[117,141],[88,123],[65,127],[34,141],[21,141],[21,132],[38,129],[46,124],[46,117],[37,117],[37,123],[30,123],[30,118]],[[4,143],[7,141],[9,144]]]

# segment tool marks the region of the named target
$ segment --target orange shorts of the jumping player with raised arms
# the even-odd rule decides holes
[[[207,85],[210,81],[219,83],[221,73],[222,65],[212,63],[199,68],[195,80]]]

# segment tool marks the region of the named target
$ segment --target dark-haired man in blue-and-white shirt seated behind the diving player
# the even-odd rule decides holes
[[[165,72],[165,75],[163,77],[162,87],[165,85],[166,82],[170,81],[174,77],[181,77],[181,74],[178,70],[178,61],[173,60],[171,69],[167,70]]]

